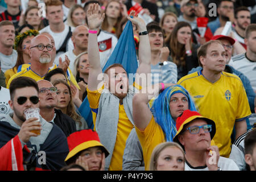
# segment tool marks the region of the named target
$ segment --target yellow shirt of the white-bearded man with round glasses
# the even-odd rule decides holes
[[[48,72],[52,71],[55,68],[57,68],[57,65],[54,65],[53,67],[49,68]],[[30,78],[33,78],[35,81],[43,80],[43,78],[45,76],[45,75],[44,76],[37,75],[34,71],[31,70],[30,64],[22,64],[19,66],[18,69],[20,69],[20,71],[18,71],[18,73],[16,73],[15,75],[10,77],[9,81],[6,84],[6,88],[9,88],[11,81],[14,78],[19,77],[19,76],[30,77]],[[68,75],[68,84],[70,85],[69,81],[71,81],[77,88],[80,89],[80,86],[77,84],[76,78],[73,76],[69,67],[67,70],[67,75]]]

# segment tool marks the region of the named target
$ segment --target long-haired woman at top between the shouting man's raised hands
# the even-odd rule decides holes
[[[119,26],[119,22],[124,16],[127,16],[126,6],[118,0],[110,0],[106,5],[101,29],[116,34],[122,28]]]

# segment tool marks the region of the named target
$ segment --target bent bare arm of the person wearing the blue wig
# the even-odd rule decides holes
[[[164,89],[175,84],[164,84]],[[150,123],[152,113],[148,107],[148,102],[162,90],[162,84],[150,85],[142,88],[133,96],[133,120],[136,127],[143,131]]]

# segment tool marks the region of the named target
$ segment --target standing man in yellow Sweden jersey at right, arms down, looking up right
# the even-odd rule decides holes
[[[250,117],[251,111],[240,78],[224,72],[225,55],[219,40],[205,43],[197,51],[203,70],[180,78],[177,84],[188,90],[200,114],[216,122],[213,140],[220,155],[228,158],[233,127],[236,128],[236,138],[245,133],[245,119]]]

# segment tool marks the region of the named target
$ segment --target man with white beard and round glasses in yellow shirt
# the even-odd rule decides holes
[[[54,56],[51,39],[46,35],[38,35],[33,38],[31,40],[29,54],[31,57],[30,67],[12,76],[7,84],[7,88],[9,88],[11,81],[16,77],[26,76],[39,81],[50,71],[48,63],[51,61],[51,57]]]

